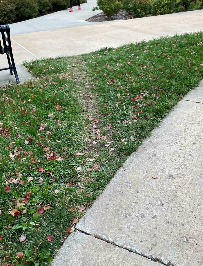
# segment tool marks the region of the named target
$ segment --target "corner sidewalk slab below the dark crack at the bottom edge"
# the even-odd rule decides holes
[[[80,232],[72,233],[51,266],[159,266],[147,258]]]

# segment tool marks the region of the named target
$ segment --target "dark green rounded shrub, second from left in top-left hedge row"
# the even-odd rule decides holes
[[[12,0],[15,4],[17,21],[32,19],[39,14],[36,0]]]

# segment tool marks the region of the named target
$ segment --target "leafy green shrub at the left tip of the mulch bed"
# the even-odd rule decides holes
[[[110,18],[122,8],[122,2],[118,0],[97,0],[97,6],[93,10],[102,10]]]

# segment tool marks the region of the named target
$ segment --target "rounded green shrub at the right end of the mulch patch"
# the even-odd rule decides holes
[[[133,0],[130,8],[137,18],[141,18],[151,12],[151,2],[149,0]]]

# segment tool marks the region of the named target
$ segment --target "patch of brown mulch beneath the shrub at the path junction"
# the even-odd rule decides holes
[[[86,21],[90,21],[90,22],[100,22],[100,21],[110,21],[110,20],[119,20],[119,19],[134,19],[135,17],[133,15],[128,15],[127,12],[125,10],[120,10],[117,14],[115,14],[114,16],[111,17],[111,19],[109,19],[104,12],[101,12],[89,19],[86,19]]]

